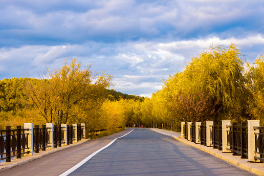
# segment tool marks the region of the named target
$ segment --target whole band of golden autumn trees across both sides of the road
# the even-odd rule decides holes
[[[86,123],[90,129],[166,127],[181,121],[259,119],[264,125],[264,56],[246,63],[235,44],[211,45],[163,81],[151,98],[109,89],[112,76],[92,72],[75,59],[40,79],[0,81],[1,125]]]

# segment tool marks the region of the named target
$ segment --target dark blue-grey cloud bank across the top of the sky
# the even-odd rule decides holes
[[[50,40],[53,45],[90,40],[197,39],[216,33],[230,38],[248,31],[262,32],[263,5],[260,0],[6,1],[0,2],[0,33],[4,38],[18,39],[17,43]]]

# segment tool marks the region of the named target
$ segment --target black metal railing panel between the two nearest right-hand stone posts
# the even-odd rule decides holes
[[[227,125],[227,150],[231,151],[233,155],[241,155],[241,158],[248,157],[248,138],[247,126]]]

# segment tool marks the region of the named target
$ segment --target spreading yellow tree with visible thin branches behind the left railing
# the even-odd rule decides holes
[[[70,65],[65,62],[55,71],[44,72],[38,84],[28,82],[25,90],[32,112],[55,124],[80,121],[80,110],[88,109],[111,85],[110,75],[98,75],[90,67],[72,59]]]

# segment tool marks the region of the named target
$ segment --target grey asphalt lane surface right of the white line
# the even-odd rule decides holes
[[[134,129],[69,176],[252,176],[217,157],[148,129]]]

